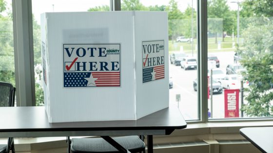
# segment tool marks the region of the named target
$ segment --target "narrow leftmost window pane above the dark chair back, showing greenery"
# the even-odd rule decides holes
[[[0,1],[0,82],[15,86],[13,22],[10,0]]]

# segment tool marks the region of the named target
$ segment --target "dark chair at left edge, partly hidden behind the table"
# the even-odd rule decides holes
[[[0,82],[0,107],[13,107],[15,87],[9,83]],[[8,138],[6,145],[0,145],[0,153],[15,153],[13,137]]]

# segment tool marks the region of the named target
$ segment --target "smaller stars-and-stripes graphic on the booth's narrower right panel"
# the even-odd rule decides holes
[[[164,65],[161,66],[155,66],[151,68],[143,68],[143,83],[163,79],[165,77],[164,73]]]

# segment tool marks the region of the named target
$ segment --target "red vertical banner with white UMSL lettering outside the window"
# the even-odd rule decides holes
[[[225,118],[239,118],[239,89],[225,89]]]

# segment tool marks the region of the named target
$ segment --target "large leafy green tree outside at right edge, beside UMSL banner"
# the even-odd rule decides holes
[[[251,17],[242,32],[244,43],[237,48],[242,56],[240,62],[247,69],[243,76],[251,83],[242,111],[252,117],[273,116],[272,0],[245,0],[242,12],[243,16]]]

